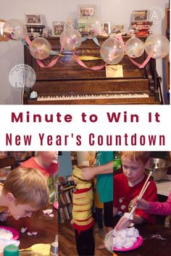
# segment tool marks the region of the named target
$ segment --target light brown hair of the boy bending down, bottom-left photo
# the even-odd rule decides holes
[[[33,168],[12,170],[7,176],[3,191],[4,194],[12,193],[17,204],[30,204],[41,209],[49,202],[46,178]]]

